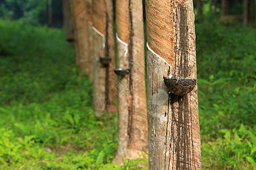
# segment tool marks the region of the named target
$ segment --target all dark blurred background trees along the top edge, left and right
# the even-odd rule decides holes
[[[144,0],[142,1],[144,5]],[[246,21],[255,23],[254,0],[194,0],[196,22],[211,23],[214,22],[214,19],[218,19],[221,23],[230,21],[242,23],[245,20],[243,18],[245,1],[248,13]],[[113,4],[115,4],[115,0],[113,0]],[[1,0],[0,18],[21,20],[32,25],[62,27],[62,3],[61,0]]]

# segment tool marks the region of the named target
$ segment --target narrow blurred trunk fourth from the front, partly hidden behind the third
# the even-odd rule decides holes
[[[85,0],[85,9],[87,11],[87,31],[88,31],[88,52],[89,52],[89,80],[93,81],[93,19],[92,19],[92,0]]]

